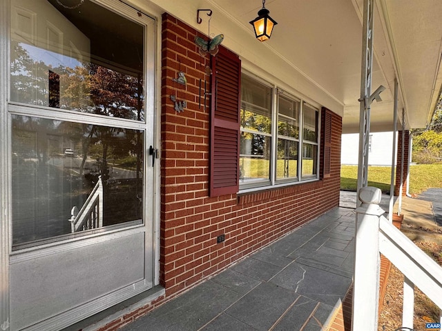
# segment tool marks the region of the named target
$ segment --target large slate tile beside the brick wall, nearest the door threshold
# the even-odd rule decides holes
[[[205,281],[122,330],[195,331],[238,301],[240,297],[241,294],[218,283]]]

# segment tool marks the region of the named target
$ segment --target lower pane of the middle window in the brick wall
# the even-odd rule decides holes
[[[298,141],[278,139],[276,178],[298,177]]]

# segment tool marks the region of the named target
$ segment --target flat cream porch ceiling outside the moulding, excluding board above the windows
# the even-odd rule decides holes
[[[250,31],[262,7],[260,0],[208,2]],[[343,132],[358,132],[363,0],[267,0],[265,6],[278,21],[266,47],[343,106]],[[431,120],[442,85],[441,17],[440,0],[376,1],[372,90],[381,84],[387,90],[372,104],[372,131],[392,130],[395,72],[406,127]]]

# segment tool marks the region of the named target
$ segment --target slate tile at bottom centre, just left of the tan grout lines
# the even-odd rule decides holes
[[[226,314],[256,330],[267,331],[297,298],[292,291],[262,283],[226,310]]]

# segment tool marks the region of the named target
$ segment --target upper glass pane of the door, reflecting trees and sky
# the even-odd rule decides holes
[[[144,27],[92,1],[11,1],[11,101],[144,121]]]

